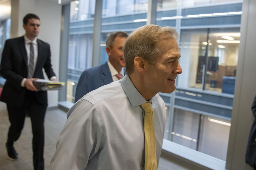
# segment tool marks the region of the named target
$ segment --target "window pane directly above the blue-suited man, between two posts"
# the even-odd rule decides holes
[[[103,0],[101,26],[101,60],[108,60],[106,53],[107,35],[115,31],[123,31],[128,35],[134,29],[146,24],[148,0]]]

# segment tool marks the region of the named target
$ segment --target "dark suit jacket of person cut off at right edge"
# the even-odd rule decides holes
[[[256,160],[256,96],[254,97],[253,105],[251,106],[251,111],[253,112],[254,121],[253,125],[251,126],[251,131],[246,149],[245,161],[251,167],[256,169],[254,165]]]

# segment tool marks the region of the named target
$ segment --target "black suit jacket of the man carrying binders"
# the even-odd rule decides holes
[[[38,58],[33,78],[44,79],[42,68],[48,78],[55,76],[51,68],[50,45],[37,39]],[[27,78],[27,52],[24,37],[6,40],[3,48],[0,74],[6,79],[0,101],[8,105],[20,107],[24,103],[26,88],[21,87],[23,78]],[[31,92],[36,95],[40,104],[47,104],[47,92]]]

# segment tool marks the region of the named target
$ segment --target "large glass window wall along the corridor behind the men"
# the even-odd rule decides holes
[[[67,100],[92,66],[95,0],[71,2]],[[107,34],[128,34],[147,21],[147,0],[102,1],[100,64],[108,60]],[[96,9],[97,10],[97,9]],[[166,104],[164,138],[226,160],[242,1],[158,0],[156,24],[177,30],[183,73],[176,90],[160,94]]]

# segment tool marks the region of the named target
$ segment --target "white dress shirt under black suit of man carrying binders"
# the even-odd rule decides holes
[[[38,57],[38,46],[37,46],[37,37],[31,41],[26,35],[24,35],[24,40],[25,40],[25,48],[27,52],[27,66],[29,66],[29,54],[30,54],[30,43],[33,44],[34,47],[34,71],[35,71],[35,66],[37,64],[37,57]],[[57,79],[56,76],[53,76],[50,78],[50,80]],[[25,87],[25,81],[26,78],[23,78],[21,81],[21,87]]]

